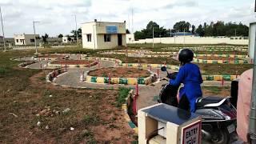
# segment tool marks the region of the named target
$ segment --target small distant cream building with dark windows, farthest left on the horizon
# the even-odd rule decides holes
[[[37,40],[39,39],[39,34],[35,34]],[[14,34],[15,45],[34,45],[34,34]],[[37,44],[39,41],[37,42]]]

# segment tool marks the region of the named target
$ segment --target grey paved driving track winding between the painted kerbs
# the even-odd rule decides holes
[[[70,59],[76,59],[76,54],[70,54]],[[26,58],[18,58],[16,60],[21,61],[28,61],[32,60],[31,57]],[[98,66],[99,65],[99,66]],[[87,70],[92,70],[98,67],[111,67],[114,66],[114,62],[108,62],[108,61],[100,61],[99,64],[96,66],[86,67],[86,68],[67,68],[67,72],[64,74],[59,75],[57,78],[54,79],[54,82],[61,86],[71,86],[71,87],[80,87],[80,88],[104,88],[104,89],[118,89],[120,86],[125,85],[107,85],[107,84],[96,84],[96,83],[90,83],[90,82],[81,82],[80,76],[82,72],[86,72]],[[26,66],[30,69],[49,69],[50,67],[46,66],[46,61],[37,62],[34,64],[31,64],[29,66]],[[45,67],[46,66],[46,67]],[[156,69],[152,70],[154,73],[157,73]],[[166,77],[166,72],[159,71],[160,78]],[[161,82],[154,82],[152,85],[148,86],[138,86],[138,99],[137,99],[137,108],[141,109],[146,106],[151,106],[157,103],[158,94],[161,90],[162,84],[166,83],[166,81]],[[222,82],[212,82],[212,81],[206,81],[203,82],[202,86],[222,86]],[[230,82],[225,82],[224,86],[230,86]],[[126,86],[130,88],[135,88],[135,86]]]

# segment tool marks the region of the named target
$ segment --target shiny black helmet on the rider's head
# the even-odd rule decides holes
[[[194,58],[194,53],[190,49],[182,49],[178,53],[178,61],[182,62],[182,64],[185,64],[186,62],[191,62]]]

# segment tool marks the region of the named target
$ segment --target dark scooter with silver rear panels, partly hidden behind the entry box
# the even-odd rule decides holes
[[[166,71],[167,78],[176,78],[177,73],[169,74],[165,66],[161,70]],[[162,80],[167,79],[162,78]],[[178,88],[179,86],[163,84],[158,102],[166,103],[170,106],[178,106]],[[230,97],[201,97],[197,99],[196,106],[195,113],[202,116],[202,138],[210,143],[229,143],[230,134],[235,133],[237,118],[237,111],[230,103]]]

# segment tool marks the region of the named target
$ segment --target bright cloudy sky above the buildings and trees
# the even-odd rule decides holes
[[[179,21],[195,26],[218,20],[249,26],[255,21],[254,0],[1,0],[0,6],[6,37],[33,34],[33,21],[39,21],[35,24],[37,34],[70,34],[75,30],[74,15],[78,27],[94,19],[126,21],[130,31],[142,30],[150,21],[166,29]]]

